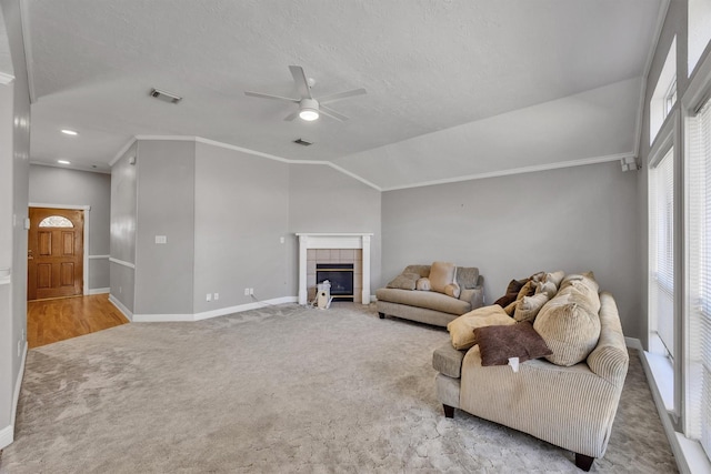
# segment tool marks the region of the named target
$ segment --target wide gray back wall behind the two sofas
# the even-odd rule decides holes
[[[637,173],[618,162],[383,193],[382,283],[411,263],[479,266],[487,302],[511,279],[592,270],[639,337]]]

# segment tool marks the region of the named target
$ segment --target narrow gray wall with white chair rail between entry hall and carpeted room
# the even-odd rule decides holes
[[[111,235],[110,255],[120,262],[136,264],[137,169],[129,160],[136,158],[133,143],[111,168]],[[121,263],[109,263],[111,296],[133,312],[136,271]]]

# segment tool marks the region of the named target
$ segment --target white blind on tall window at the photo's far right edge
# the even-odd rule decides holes
[[[687,436],[711,457],[711,101],[689,121]]]

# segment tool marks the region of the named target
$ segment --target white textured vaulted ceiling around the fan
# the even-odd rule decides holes
[[[197,135],[330,161],[380,189],[633,152],[664,6],[22,1],[34,162],[106,170],[134,135]],[[296,105],[243,91],[296,97],[289,64],[316,79],[316,97],[368,94],[332,104],[347,122],[286,122]]]

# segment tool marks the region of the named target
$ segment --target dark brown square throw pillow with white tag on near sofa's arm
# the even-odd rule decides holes
[[[474,339],[479,344],[482,366],[507,365],[510,357],[525,362],[553,353],[527,321],[507,326],[478,327]]]

